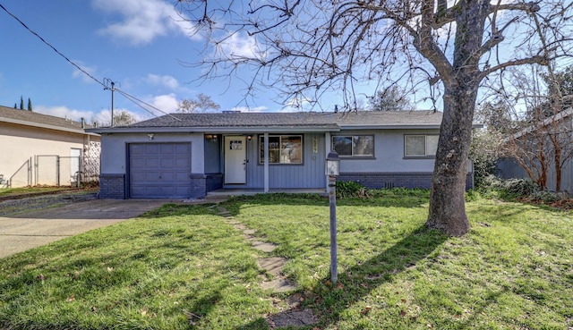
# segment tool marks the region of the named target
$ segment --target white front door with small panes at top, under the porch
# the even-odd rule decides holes
[[[247,182],[247,144],[244,136],[225,137],[225,183]]]

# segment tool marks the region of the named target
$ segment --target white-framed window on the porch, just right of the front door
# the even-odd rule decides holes
[[[260,162],[265,163],[265,139],[259,138]],[[303,137],[301,135],[269,136],[269,164],[303,164]]]

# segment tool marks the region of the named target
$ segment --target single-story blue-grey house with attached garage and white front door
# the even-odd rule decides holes
[[[87,131],[101,134],[100,198],[179,199],[219,189],[326,191],[331,148],[341,158],[338,180],[430,188],[441,117],[432,111],[167,114]]]

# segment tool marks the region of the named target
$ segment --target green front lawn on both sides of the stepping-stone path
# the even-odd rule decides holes
[[[428,231],[428,193],[338,200],[338,283],[329,283],[328,199],[260,195],[223,204],[278,244],[303,329],[568,329],[571,212],[478,199],[470,233]],[[0,327],[267,329],[285,294],[259,287],[265,256],[210,206],[146,216],[0,260]]]

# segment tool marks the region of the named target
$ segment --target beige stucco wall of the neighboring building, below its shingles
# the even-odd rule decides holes
[[[0,174],[4,174],[4,179],[10,179],[15,174],[12,187],[29,183],[55,185],[56,156],[70,157],[72,148],[80,149],[83,153],[90,140],[98,141],[99,137],[0,123]],[[24,165],[26,161],[30,161],[30,174],[28,165]],[[60,158],[60,185],[72,182],[70,162],[70,158]]]

